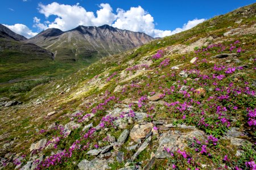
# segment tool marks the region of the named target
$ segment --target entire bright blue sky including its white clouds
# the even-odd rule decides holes
[[[255,1],[9,0],[1,2],[0,23],[26,37],[51,27],[66,31],[79,24],[110,24],[163,37],[251,3]]]

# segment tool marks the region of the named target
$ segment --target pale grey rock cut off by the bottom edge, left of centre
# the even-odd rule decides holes
[[[106,160],[93,159],[92,161],[88,161],[86,159],[82,160],[78,167],[80,170],[105,170],[110,169],[108,162]]]

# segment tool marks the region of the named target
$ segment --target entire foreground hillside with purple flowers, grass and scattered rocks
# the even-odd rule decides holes
[[[0,167],[255,169],[255,7],[2,98]]]

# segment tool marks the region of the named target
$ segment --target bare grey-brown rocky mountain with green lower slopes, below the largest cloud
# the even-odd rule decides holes
[[[55,53],[61,61],[92,62],[146,44],[154,38],[141,32],[122,30],[109,25],[78,26],[70,31],[49,28],[25,40]]]

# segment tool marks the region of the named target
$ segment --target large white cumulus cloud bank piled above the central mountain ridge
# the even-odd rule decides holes
[[[182,28],[176,28],[173,31],[160,30],[155,28],[154,18],[141,6],[131,7],[127,11],[118,8],[115,13],[108,3],[101,3],[99,7],[100,10],[97,10],[96,15],[94,15],[94,12],[86,11],[79,3],[76,5],[63,5],[57,2],[48,5],[40,3],[39,12],[46,16],[46,22],[41,23],[39,18],[34,17],[34,27],[40,30],[59,28],[67,31],[78,25],[100,26],[108,24],[119,29],[144,32],[152,37],[164,37],[195,27],[205,20],[189,20]],[[56,16],[53,22],[48,20],[51,15]]]

